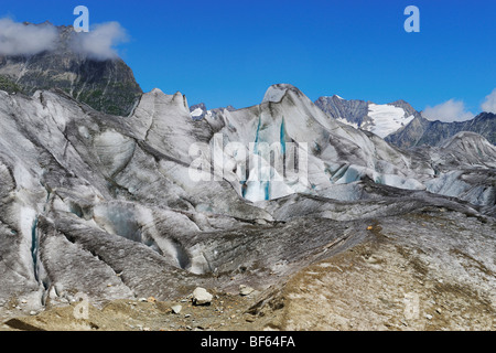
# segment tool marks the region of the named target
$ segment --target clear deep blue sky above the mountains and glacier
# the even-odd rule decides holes
[[[119,22],[118,47],[143,90],[182,92],[191,105],[237,108],[261,101],[277,83],[312,100],[338,94],[416,109],[449,99],[474,114],[496,87],[496,1],[2,1],[0,17],[73,24]],[[420,9],[420,33],[403,10]]]

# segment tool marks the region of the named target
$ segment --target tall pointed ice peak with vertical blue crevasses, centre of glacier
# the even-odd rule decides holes
[[[425,186],[418,181],[419,176],[429,178],[434,173],[429,163],[412,159],[377,136],[331,118],[288,84],[271,86],[258,106],[223,111],[217,118],[223,120],[218,132],[224,139],[241,142],[252,160],[246,190],[240,195],[254,202],[298,192],[332,194],[337,184],[348,184],[365,176],[391,186],[421,190]],[[255,149],[249,149],[250,143]],[[273,165],[273,156],[287,158],[284,167],[288,170],[298,169],[288,165],[294,162],[287,149],[290,143],[304,153],[301,162],[308,170],[279,180],[276,176],[284,176],[284,171]],[[263,154],[261,145],[272,154]],[[254,175],[262,180],[250,178]]]

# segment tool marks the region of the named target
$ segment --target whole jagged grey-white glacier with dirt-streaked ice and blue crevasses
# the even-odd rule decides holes
[[[2,315],[12,297],[43,310],[76,292],[103,306],[197,286],[267,288],[343,232],[354,236],[325,256],[359,244],[373,218],[462,214],[495,240],[496,148],[485,138],[400,149],[289,84],[201,119],[183,94],[160,89],[127,117],[61,90],[0,92],[0,122]],[[192,179],[192,164],[205,178]]]

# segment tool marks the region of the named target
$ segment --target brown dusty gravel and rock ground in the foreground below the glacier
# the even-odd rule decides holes
[[[287,280],[248,296],[241,296],[239,289],[226,292],[207,288],[213,295],[208,306],[195,306],[192,295],[170,301],[153,297],[117,300],[101,309],[89,306],[86,319],[77,318],[80,302],[73,302],[7,320],[1,329],[495,329],[496,263],[494,248],[485,245],[494,237],[493,224],[456,213],[425,212],[370,221],[364,227],[368,236],[363,243],[317,259]],[[477,232],[461,236],[460,227]],[[174,313],[172,307],[179,304],[182,310]]]

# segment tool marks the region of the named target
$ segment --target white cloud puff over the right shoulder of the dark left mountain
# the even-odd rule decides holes
[[[72,49],[93,60],[118,57],[116,46],[128,40],[126,30],[118,22],[95,25],[89,32],[74,33]]]

